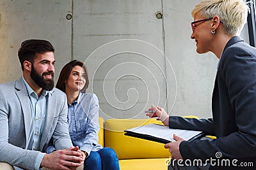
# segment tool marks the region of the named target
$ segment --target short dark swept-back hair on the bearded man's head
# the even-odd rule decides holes
[[[22,71],[23,63],[28,60],[33,64],[36,53],[54,52],[54,47],[49,41],[43,39],[28,39],[23,41],[18,52]]]

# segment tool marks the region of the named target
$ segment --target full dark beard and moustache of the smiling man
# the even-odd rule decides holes
[[[45,74],[52,74],[52,80],[49,80],[49,79],[44,80],[44,75]],[[49,90],[49,91],[53,89],[53,87],[54,87],[54,80],[53,80],[54,73],[52,71],[44,72],[41,76],[40,74],[38,74],[36,72],[35,67],[32,64],[31,65],[30,76],[31,76],[32,80],[35,81],[36,85],[38,85],[42,89]]]

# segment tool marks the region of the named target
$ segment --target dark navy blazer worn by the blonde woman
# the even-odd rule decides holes
[[[212,141],[182,141],[183,159],[256,157],[256,48],[234,36],[223,50],[212,93],[212,118],[170,117],[170,128],[204,131]]]

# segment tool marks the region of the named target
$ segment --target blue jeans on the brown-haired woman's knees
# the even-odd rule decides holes
[[[84,160],[84,169],[119,170],[119,161],[116,152],[111,148],[102,148],[97,152],[92,151],[89,157]]]

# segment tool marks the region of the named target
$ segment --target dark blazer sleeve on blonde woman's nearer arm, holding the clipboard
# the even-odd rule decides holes
[[[180,153],[183,159],[223,157],[256,157],[256,59],[252,50],[239,46],[223,52],[219,74],[225,81],[230,105],[234,108],[237,131],[212,141],[182,141]],[[225,114],[225,113],[221,113]],[[228,126],[228,125],[227,125]]]

